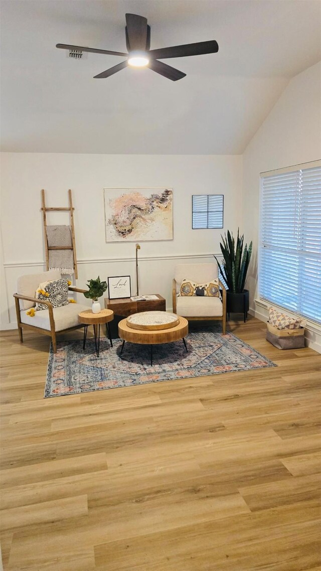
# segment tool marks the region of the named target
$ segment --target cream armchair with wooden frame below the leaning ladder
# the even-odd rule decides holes
[[[22,329],[34,329],[34,331],[43,333],[43,335],[51,336],[53,350],[54,353],[56,353],[56,333],[84,327],[84,325],[78,321],[78,313],[88,309],[88,306],[79,303],[69,303],[68,305],[63,305],[63,307],[53,308],[50,301],[42,299],[41,303],[47,305],[48,309],[36,311],[34,317],[27,315],[27,311],[29,311],[31,307],[35,307],[35,304],[40,301],[39,299],[35,299],[35,292],[39,284],[59,279],[61,279],[61,274],[57,270],[42,272],[42,274],[30,274],[18,278],[18,291],[14,293],[14,298],[21,343],[23,341]],[[78,289],[75,287],[69,287],[68,289],[79,293],[87,291],[86,289]]]

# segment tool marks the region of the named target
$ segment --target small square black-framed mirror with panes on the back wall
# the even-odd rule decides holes
[[[192,195],[192,228],[223,228],[223,194]]]

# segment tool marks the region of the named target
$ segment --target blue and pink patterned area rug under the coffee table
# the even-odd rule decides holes
[[[232,333],[223,336],[212,327],[188,333],[188,353],[183,341],[154,345],[153,366],[150,346],[126,342],[120,355],[121,339],[113,340],[113,348],[106,337],[100,344],[99,357],[93,339],[85,351],[81,340],[58,343],[56,354],[51,347],[45,397],[276,367]]]

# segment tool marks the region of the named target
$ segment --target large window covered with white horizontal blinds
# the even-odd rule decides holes
[[[321,323],[321,162],[261,175],[259,295]]]

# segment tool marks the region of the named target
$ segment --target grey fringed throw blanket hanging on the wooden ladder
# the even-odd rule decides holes
[[[70,226],[47,226],[48,246],[73,247]],[[49,250],[49,270],[59,270],[61,274],[74,274],[73,250]]]

